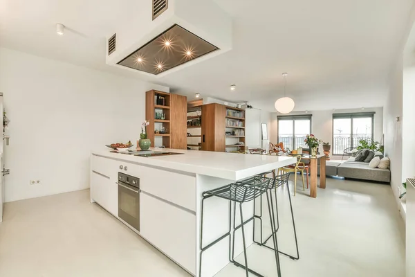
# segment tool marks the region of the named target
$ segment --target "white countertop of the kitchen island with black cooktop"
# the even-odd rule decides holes
[[[154,151],[178,152],[180,155],[161,157],[138,157],[127,154],[111,153],[107,148],[93,150],[91,153],[101,157],[138,163],[143,166],[156,166],[170,170],[179,170],[200,175],[208,175],[232,181],[238,181],[262,172],[295,163],[295,157],[269,156],[259,154],[236,154],[195,150],[158,149]]]

